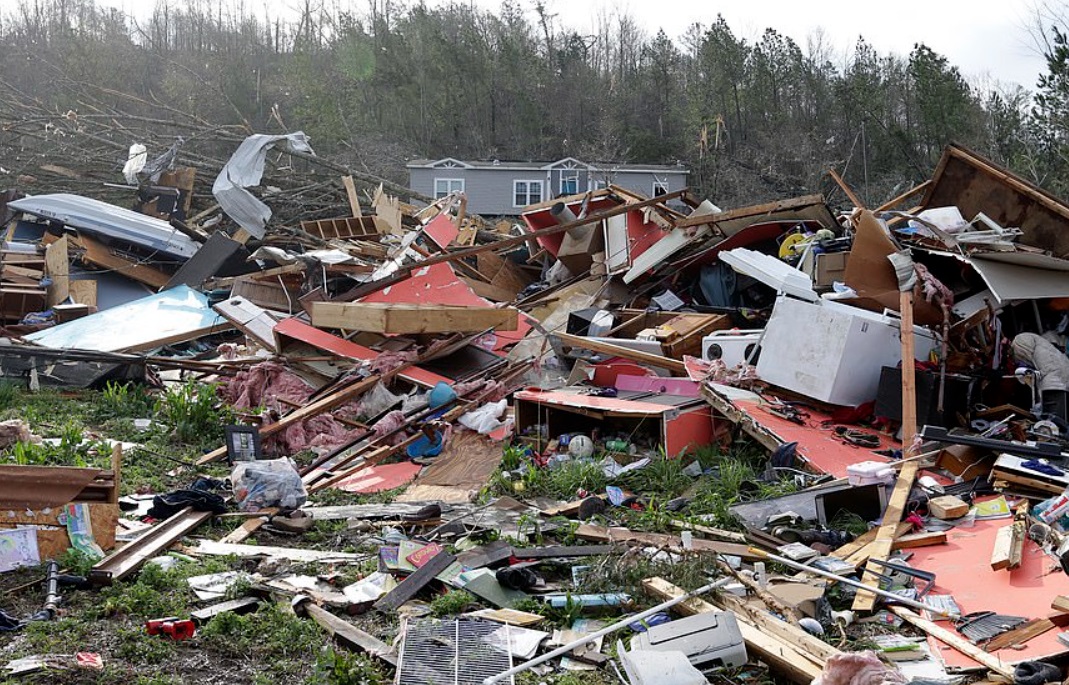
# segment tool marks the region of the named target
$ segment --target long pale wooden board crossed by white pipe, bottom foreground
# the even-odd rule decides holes
[[[685,594],[682,588],[673,586],[664,578],[647,578],[642,581],[642,586],[650,594],[666,600]],[[684,616],[694,616],[696,613],[717,611],[721,607],[699,597],[690,597],[677,604],[675,609]],[[796,683],[806,684],[819,678],[823,672],[823,664],[826,657],[810,653],[801,645],[802,643],[785,639],[766,628],[762,628],[754,622],[753,616],[748,612],[734,611],[733,613],[739,624],[739,630],[746,642],[746,649],[757,654],[762,661],[769,664],[774,670],[784,673]],[[770,617],[770,620],[778,621],[777,619],[772,619],[772,617]],[[788,628],[791,627],[783,621],[778,621],[778,623]],[[803,633],[802,630],[799,632]],[[830,644],[824,644],[824,649],[838,652],[838,650]]]

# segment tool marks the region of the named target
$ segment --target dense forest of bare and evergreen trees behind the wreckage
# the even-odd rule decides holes
[[[93,136],[108,139],[115,169],[138,142],[124,140],[130,118],[230,150],[238,134],[303,129],[320,156],[402,184],[415,157],[575,156],[681,161],[724,206],[831,191],[828,168],[880,201],[928,177],[956,141],[1069,189],[1069,46],[1056,17],[1038,21],[1048,72],[1027,91],[971,84],[925,45],[881,55],[861,38],[843,57],[820,35],[744,40],[718,16],[673,40],[626,14],[579,33],[537,1],[484,12],[306,0],[288,20],[212,0],[161,0],[143,17],[93,0],[5,6],[0,152],[32,147],[38,166],[50,136],[95,116],[110,122]],[[233,138],[213,138],[221,130]],[[55,161],[76,165],[62,150],[71,158]]]

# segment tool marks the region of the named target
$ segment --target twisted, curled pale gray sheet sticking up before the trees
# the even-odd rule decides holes
[[[260,185],[267,151],[277,143],[283,143],[282,149],[285,152],[315,154],[304,131],[298,130],[284,136],[262,134],[249,136],[227,160],[212,185],[212,194],[227,216],[258,238],[263,237],[264,227],[270,220],[272,211],[247,188]]]

